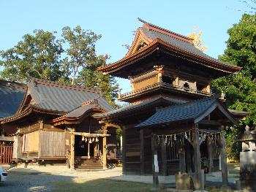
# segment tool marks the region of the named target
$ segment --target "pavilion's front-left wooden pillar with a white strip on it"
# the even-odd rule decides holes
[[[152,191],[156,191],[159,189],[159,180],[158,180],[158,165],[155,164],[155,160],[157,160],[157,138],[156,135],[152,135],[151,137],[151,151],[152,151],[152,175],[153,175],[153,185]]]

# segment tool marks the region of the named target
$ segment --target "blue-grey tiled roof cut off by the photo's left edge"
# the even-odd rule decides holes
[[[0,80],[0,118],[15,114],[25,92],[26,85]]]

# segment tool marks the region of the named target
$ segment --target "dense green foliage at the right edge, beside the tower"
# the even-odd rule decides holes
[[[227,49],[219,59],[244,69],[236,74],[221,77],[211,82],[214,91],[225,92],[227,107],[248,111],[250,114],[240,121],[240,127],[227,128],[227,153],[239,157],[241,144],[236,139],[244,132],[244,126],[256,125],[256,15],[244,14],[239,23],[228,29]]]

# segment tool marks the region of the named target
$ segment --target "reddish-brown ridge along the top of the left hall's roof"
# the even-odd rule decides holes
[[[59,88],[67,88],[69,90],[78,90],[78,91],[89,91],[89,92],[94,92],[94,93],[99,93],[102,95],[102,91],[99,88],[86,88],[80,85],[69,85],[61,82],[55,82],[51,80],[42,80],[38,78],[31,78],[31,81],[42,84],[42,85],[50,85],[53,87],[59,87]]]

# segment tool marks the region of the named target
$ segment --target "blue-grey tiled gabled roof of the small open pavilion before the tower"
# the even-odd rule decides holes
[[[213,96],[208,99],[200,99],[159,109],[154,115],[136,127],[159,126],[184,120],[192,120],[194,123],[199,123],[200,120],[216,108],[222,111],[231,122],[237,124],[236,118],[233,118],[227,108],[219,102],[218,96]]]

